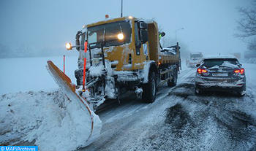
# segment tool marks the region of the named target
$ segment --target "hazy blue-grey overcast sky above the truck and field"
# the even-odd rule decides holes
[[[157,20],[167,36],[206,55],[243,52],[246,44],[234,37],[238,7],[249,0],[124,0],[124,16]],[[120,17],[121,0],[1,0],[1,44],[34,49],[64,48],[74,42],[84,24]]]

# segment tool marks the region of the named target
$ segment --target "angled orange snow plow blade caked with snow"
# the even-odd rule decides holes
[[[88,127],[89,131],[81,131],[81,134],[88,135],[88,139],[84,146],[91,144],[91,142],[94,142],[94,140],[97,139],[100,134],[102,123],[99,116],[90,109],[86,98],[80,97],[78,93],[76,93],[75,85],[72,84],[70,78],[64,74],[63,71],[61,71],[52,61],[48,61],[47,68],[53,79],[61,88],[61,91],[67,96],[67,98],[69,98],[71,103],[75,104],[77,109],[83,109],[83,111],[86,113],[84,115],[85,117],[83,118],[88,117],[89,122],[87,125],[83,126]]]

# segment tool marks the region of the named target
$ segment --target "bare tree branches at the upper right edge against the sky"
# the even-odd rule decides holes
[[[248,49],[256,51],[256,0],[252,1],[251,8],[239,8],[242,18],[238,21],[240,34],[236,36],[247,39]],[[249,40],[248,40],[249,39]]]

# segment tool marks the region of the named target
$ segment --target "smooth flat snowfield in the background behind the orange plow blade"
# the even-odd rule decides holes
[[[1,58],[0,95],[24,91],[56,90],[54,82],[45,66],[53,61],[63,69],[63,57],[45,58]],[[75,82],[75,69],[78,69],[78,56],[66,56],[65,73]]]

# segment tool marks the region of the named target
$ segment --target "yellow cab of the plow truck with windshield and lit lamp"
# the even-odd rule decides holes
[[[80,32],[80,43],[83,44],[85,40],[89,44],[91,58],[102,53],[103,45],[105,60],[112,62],[115,71],[143,69],[145,61],[158,60],[158,29],[154,21],[145,23],[137,18],[126,17],[92,23]],[[83,50],[83,46],[78,49],[79,68],[83,67],[84,57],[90,58],[89,54],[84,56]]]

